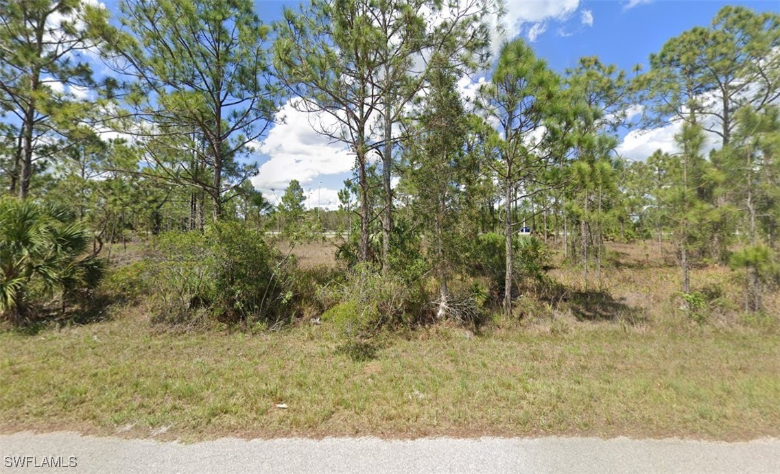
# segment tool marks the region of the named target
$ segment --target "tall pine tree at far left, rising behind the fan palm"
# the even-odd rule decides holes
[[[83,54],[101,44],[107,22],[105,9],[82,0],[0,0],[0,109],[19,123],[6,126],[16,142],[10,193],[27,197],[36,161],[73,143],[51,146],[86,115],[64,91],[94,85]]]

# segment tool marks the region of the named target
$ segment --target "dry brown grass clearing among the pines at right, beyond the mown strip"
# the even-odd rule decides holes
[[[682,272],[675,263],[671,246],[665,245],[663,254],[659,255],[656,242],[630,245],[608,242],[601,281],[595,265],[591,264],[587,285],[582,267],[564,266],[559,259],[560,252],[549,276],[566,288],[567,295],[576,294],[583,304],[594,303],[590,313],[601,312],[601,319],[644,324],[653,327],[654,331],[685,331],[692,320],[709,327],[736,330],[745,326],[760,327],[762,331],[772,333],[780,330],[780,292],[764,295],[763,313],[746,312],[743,310],[744,274],[729,267],[693,268],[691,291],[704,295],[706,304],[696,314],[686,310],[681,297]],[[600,302],[605,307],[600,308]],[[563,313],[571,313],[571,306],[563,305]],[[555,312],[554,308],[549,310]],[[556,314],[564,319],[577,316],[561,311]],[[549,314],[544,316],[550,317]]]

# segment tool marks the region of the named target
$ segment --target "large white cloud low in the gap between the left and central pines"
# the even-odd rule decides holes
[[[277,113],[277,118],[284,118],[284,122],[277,123],[265,140],[250,145],[268,155],[268,161],[261,164],[252,179],[256,188],[270,193],[271,189],[285,189],[291,179],[297,179],[307,189],[316,185],[321,175],[339,175],[352,170],[355,158],[345,144],[332,143],[310,123],[321,121],[331,126],[335,125],[335,119],[298,111],[290,101]]]

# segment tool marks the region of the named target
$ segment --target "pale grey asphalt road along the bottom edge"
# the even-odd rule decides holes
[[[179,444],[80,437],[75,433],[0,436],[0,473],[29,472],[7,467],[9,460],[19,462],[20,457],[30,466],[51,465],[52,460],[76,465],[73,469],[44,467],[34,472],[780,473],[780,440],[227,438]]]

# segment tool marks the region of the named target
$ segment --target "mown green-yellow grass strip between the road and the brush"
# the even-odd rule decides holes
[[[0,334],[0,431],[131,437],[780,436],[780,336],[609,323],[433,327],[345,350],[322,327]],[[278,409],[284,403],[287,409]]]

